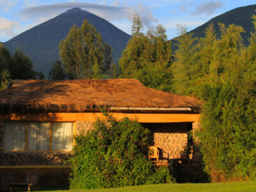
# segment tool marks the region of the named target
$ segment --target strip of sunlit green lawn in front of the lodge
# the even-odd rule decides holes
[[[44,191],[44,190],[42,190]],[[57,190],[56,190],[57,191]],[[55,191],[55,192],[56,192]],[[127,188],[111,188],[111,189],[87,189],[87,190],[60,190],[67,192],[128,192],[128,191],[138,191],[138,192],[150,192],[150,191],[256,191],[256,182],[246,181],[246,182],[226,182],[226,183],[205,183],[205,184],[157,184],[157,185],[147,185],[147,186],[132,186]],[[48,191],[50,192],[50,191]],[[53,191],[52,191],[53,192]]]

